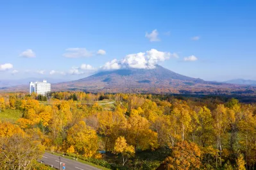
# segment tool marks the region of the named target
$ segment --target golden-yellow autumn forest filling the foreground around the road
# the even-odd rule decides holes
[[[0,169],[45,151],[107,169],[255,169],[256,105],[150,94],[0,93]]]

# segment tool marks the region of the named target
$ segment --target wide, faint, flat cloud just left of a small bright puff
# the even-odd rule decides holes
[[[93,52],[85,48],[69,48],[66,49],[66,53],[63,54],[65,58],[86,58],[93,56]]]

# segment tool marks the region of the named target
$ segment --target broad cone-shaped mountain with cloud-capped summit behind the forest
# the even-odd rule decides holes
[[[195,93],[220,91],[235,85],[209,82],[172,72],[157,65],[151,70],[124,68],[103,71],[77,81],[53,86],[56,90],[85,90],[90,92],[125,93]]]

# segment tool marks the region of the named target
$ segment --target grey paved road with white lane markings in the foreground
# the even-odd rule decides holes
[[[83,164],[80,162],[77,162],[76,160],[71,160],[64,157],[58,157],[56,155],[53,155],[51,153],[44,153],[44,156],[42,157],[42,163],[47,164],[49,166],[53,165],[53,167],[60,168],[60,162],[63,165],[65,164],[65,170],[91,170],[91,169],[97,169],[96,167],[89,166],[87,164]],[[61,166],[61,169],[63,169],[63,166]]]

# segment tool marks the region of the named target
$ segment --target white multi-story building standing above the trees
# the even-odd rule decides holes
[[[51,84],[47,81],[30,82],[30,94],[33,92],[38,95],[46,95],[48,92],[51,92]]]

